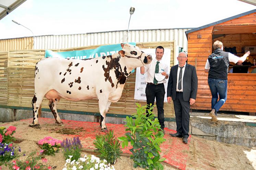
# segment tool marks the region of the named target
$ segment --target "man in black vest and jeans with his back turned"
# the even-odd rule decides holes
[[[227,100],[228,91],[228,69],[229,62],[244,62],[250,55],[246,52],[242,57],[237,57],[231,53],[223,51],[223,44],[220,41],[215,41],[214,52],[209,55],[206,64],[205,72],[208,73],[208,85],[211,90],[211,120],[218,122],[217,112]],[[218,98],[219,101],[218,101]]]

